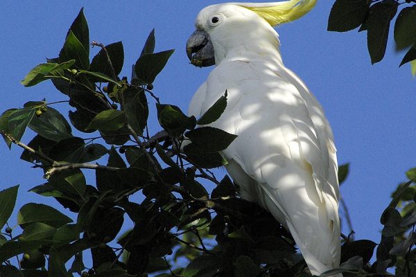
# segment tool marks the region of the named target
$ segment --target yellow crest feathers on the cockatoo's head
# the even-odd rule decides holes
[[[256,12],[271,26],[290,22],[303,17],[315,6],[317,0],[290,0],[273,3],[236,3]]]

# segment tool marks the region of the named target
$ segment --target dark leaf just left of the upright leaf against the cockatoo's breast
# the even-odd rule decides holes
[[[178,135],[186,129],[193,129],[196,126],[196,118],[186,116],[179,107],[156,104],[156,108],[159,123],[166,132]]]

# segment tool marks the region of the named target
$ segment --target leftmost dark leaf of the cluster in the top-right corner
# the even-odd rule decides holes
[[[370,3],[368,0],[336,0],[329,14],[328,30],[354,30],[365,21]]]

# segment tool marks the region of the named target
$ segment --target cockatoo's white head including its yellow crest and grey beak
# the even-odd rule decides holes
[[[230,49],[250,49],[266,41],[277,44],[272,27],[305,15],[316,0],[273,3],[223,3],[208,6],[196,18],[196,31],[187,42],[187,55],[195,66],[218,64]],[[270,46],[270,44],[268,44]]]

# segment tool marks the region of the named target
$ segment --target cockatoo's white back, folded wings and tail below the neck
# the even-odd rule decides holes
[[[318,101],[291,71],[264,62],[222,62],[204,86],[200,113],[228,91],[211,126],[239,136],[223,154],[242,196],[288,226],[312,271],[338,265],[336,153]]]

